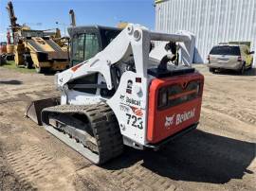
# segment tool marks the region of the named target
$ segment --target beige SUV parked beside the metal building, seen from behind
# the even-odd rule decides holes
[[[234,70],[243,74],[251,68],[254,51],[249,51],[246,44],[219,44],[213,46],[208,56],[209,70]]]

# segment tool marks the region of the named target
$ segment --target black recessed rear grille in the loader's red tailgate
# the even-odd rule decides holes
[[[183,86],[183,87],[182,87]],[[170,86],[165,86],[159,89],[158,91],[158,110],[164,110],[170,107],[174,107],[176,105],[191,101],[198,96],[202,95],[202,83],[200,80],[190,81],[188,84],[173,84]],[[167,92],[167,96],[163,93]],[[164,103],[163,95],[167,98]],[[164,97],[164,98],[165,98]]]

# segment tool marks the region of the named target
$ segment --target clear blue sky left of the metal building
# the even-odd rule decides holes
[[[0,0],[0,41],[6,41],[8,2]],[[117,26],[119,21],[127,21],[155,27],[154,0],[13,0],[12,4],[17,23],[33,29],[60,27],[64,31],[64,25],[70,24],[69,9],[76,13],[77,26]]]

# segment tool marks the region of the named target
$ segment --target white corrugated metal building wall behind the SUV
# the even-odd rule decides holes
[[[250,41],[256,50],[256,0],[155,1],[155,31],[181,29],[195,34],[194,62],[206,62],[210,48],[220,42]]]

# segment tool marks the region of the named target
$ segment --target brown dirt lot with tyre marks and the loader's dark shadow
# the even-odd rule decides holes
[[[24,117],[27,102],[57,95],[53,76],[0,67],[0,190],[256,190],[256,76],[197,68],[198,129],[157,152],[126,148],[99,167]]]

